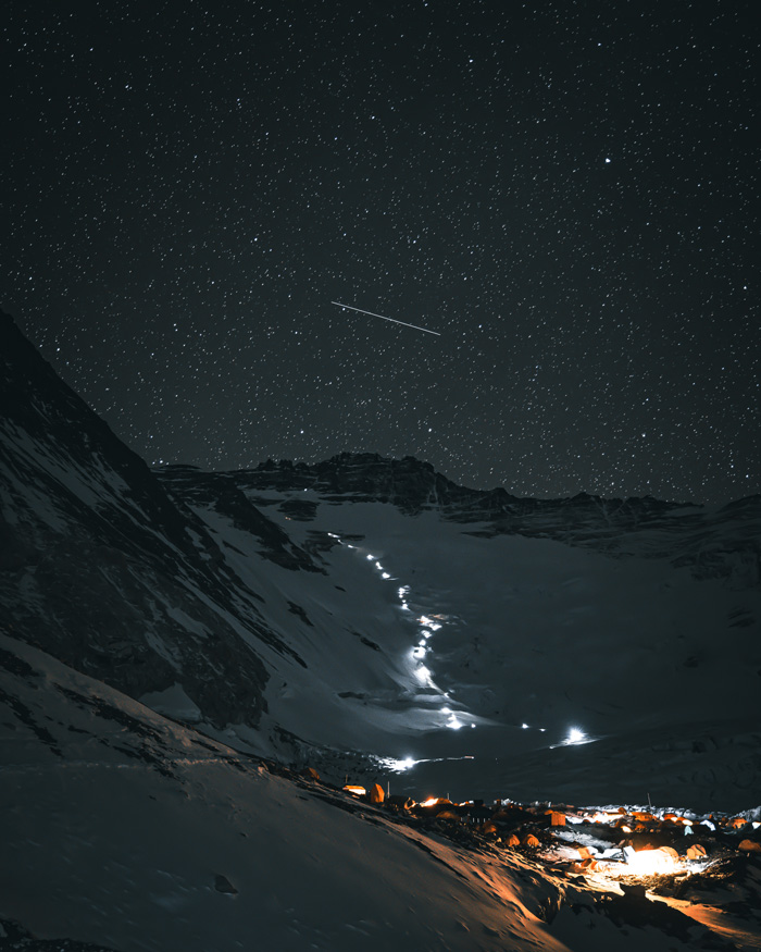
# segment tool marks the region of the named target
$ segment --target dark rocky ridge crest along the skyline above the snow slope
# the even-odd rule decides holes
[[[190,467],[182,469],[186,485],[203,478]],[[696,578],[725,579],[738,588],[761,582],[761,496],[716,508],[587,493],[563,499],[521,498],[502,487],[459,486],[411,456],[388,459],[374,453],[341,453],[313,466],[267,460],[225,477],[262,508],[272,505],[267,492],[309,490],[327,505],[386,503],[409,516],[435,510],[444,519],[473,523],[473,532],[486,537],[552,539],[611,556],[669,558]],[[162,479],[174,483],[178,477],[167,468]],[[302,519],[309,519],[314,507],[311,502],[282,504],[288,505],[291,510],[283,511]]]

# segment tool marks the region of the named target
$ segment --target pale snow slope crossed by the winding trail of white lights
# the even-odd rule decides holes
[[[262,592],[270,627],[287,628],[284,606],[298,599],[307,666],[278,668],[259,735],[240,740],[257,747],[275,724],[313,744],[421,761],[399,781],[413,795],[435,783],[463,798],[600,802],[614,782],[628,802],[758,800],[758,588],[653,556],[661,528],[612,557],[435,509],[245,489],[324,572],[295,577],[194,499],[200,477],[162,478]],[[298,506],[308,518],[287,515]],[[585,743],[565,743],[574,729]]]

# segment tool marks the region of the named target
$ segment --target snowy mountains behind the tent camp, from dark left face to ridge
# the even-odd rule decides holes
[[[412,794],[758,799],[759,497],[519,499],[373,454],[151,472],[9,318],[2,354],[14,638]]]

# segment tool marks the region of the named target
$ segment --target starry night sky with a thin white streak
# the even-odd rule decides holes
[[[757,13],[16,2],[0,305],[150,463],[758,493]]]

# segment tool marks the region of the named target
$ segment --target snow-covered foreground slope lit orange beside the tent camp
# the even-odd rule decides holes
[[[520,853],[426,836],[13,639],[0,660],[8,932],[118,952],[702,948],[676,913],[646,924]]]

